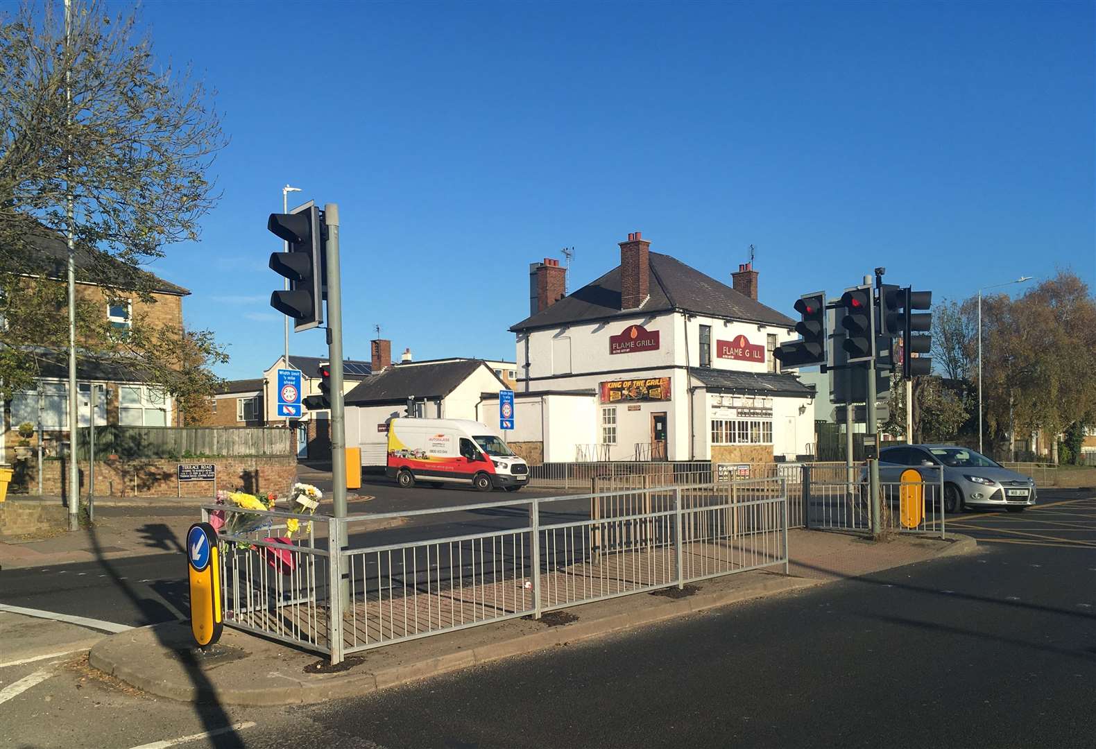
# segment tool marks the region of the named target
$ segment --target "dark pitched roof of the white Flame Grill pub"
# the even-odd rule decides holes
[[[680,260],[652,252],[650,295],[639,310],[620,309],[620,266],[613,268],[597,280],[583,286],[546,310],[526,318],[510,330],[525,331],[535,327],[555,327],[566,323],[606,318],[635,318],[638,314],[685,310],[713,318],[729,318],[749,322],[791,327],[796,323],[770,307],[735,291],[711,276],[685,265]]]

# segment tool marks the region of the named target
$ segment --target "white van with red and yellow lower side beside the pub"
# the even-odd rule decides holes
[[[499,434],[465,418],[388,420],[385,472],[410,488],[426,484],[471,484],[480,492],[513,492],[529,482],[529,466]]]

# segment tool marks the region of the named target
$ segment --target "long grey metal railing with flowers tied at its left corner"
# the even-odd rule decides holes
[[[220,505],[204,514],[215,510],[270,522],[220,535],[225,623],[330,654],[332,662],[489,622],[539,618],[750,569],[788,568],[783,477],[345,519]],[[472,532],[441,535],[438,529],[453,527],[453,514],[461,514],[458,522]],[[292,518],[301,527],[312,520],[316,532],[279,539]],[[362,523],[390,518],[410,522],[359,532]],[[342,549],[330,543],[341,532],[349,539]]]

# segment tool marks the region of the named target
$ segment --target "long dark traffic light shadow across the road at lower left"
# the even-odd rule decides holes
[[[149,534],[151,538],[155,538],[158,543],[162,544],[160,548],[165,550],[175,549],[182,552],[182,544],[179,543],[179,539],[175,538],[175,534],[167,526],[152,523],[145,526],[145,529],[152,529]],[[142,533],[146,533],[145,529],[141,529]],[[129,585],[125,577],[118,574],[118,572],[111,564],[111,561],[103,555],[102,544],[100,544],[99,534],[95,532],[94,527],[91,528],[90,537],[92,551],[99,560],[103,571],[111,577],[114,586],[125,594],[125,596],[134,603],[135,607],[137,607],[148,621],[174,621],[176,619],[175,612],[170,611],[168,607],[159,601],[140,596],[133,588],[133,586]],[[185,564],[185,557],[181,556],[180,571],[184,571]],[[185,611],[185,602],[182,610]],[[180,648],[178,642],[171,642],[164,638],[162,629],[153,629],[153,632],[156,632],[160,637],[161,646],[174,650],[179,661],[185,668],[186,675],[198,694],[199,701],[194,703],[194,712],[202,721],[202,725],[205,730],[221,731],[217,736],[209,737],[209,741],[212,742],[210,746],[224,749],[243,747],[243,740],[231,727],[232,724],[228,714],[225,712],[220,701],[217,700],[216,693],[213,689],[213,683],[206,678],[205,672],[203,672],[202,667],[198,664],[197,654],[195,653],[197,648]]]

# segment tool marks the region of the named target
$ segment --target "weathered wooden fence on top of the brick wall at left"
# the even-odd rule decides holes
[[[89,429],[78,430],[79,460],[88,459]],[[95,459],[285,457],[294,454],[293,436],[270,427],[96,426]]]

